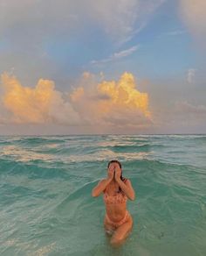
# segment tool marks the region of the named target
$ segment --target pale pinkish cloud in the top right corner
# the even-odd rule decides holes
[[[206,37],[206,1],[181,0],[180,12],[184,23],[197,39]]]

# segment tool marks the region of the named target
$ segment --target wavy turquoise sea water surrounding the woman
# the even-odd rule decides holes
[[[91,191],[109,160],[136,198],[120,248]],[[206,135],[0,137],[0,255],[206,255]]]

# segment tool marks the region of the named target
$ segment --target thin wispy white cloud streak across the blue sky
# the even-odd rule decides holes
[[[92,60],[91,63],[95,65],[104,64],[107,62],[112,62],[115,60],[120,60],[121,58],[127,57],[131,55],[132,53],[136,52],[139,49],[140,45],[132,46],[126,50],[120,51],[118,53],[113,53],[111,56],[109,56],[106,59],[103,60]]]

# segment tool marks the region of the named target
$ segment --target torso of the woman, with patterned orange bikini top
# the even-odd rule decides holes
[[[125,181],[126,182],[126,179]],[[127,210],[127,196],[120,191],[117,182],[110,182],[104,190],[103,199],[106,205],[106,214],[113,221],[120,221],[125,217]]]

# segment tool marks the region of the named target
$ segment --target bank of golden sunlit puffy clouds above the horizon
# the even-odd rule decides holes
[[[86,72],[69,93],[55,89],[50,80],[39,79],[30,88],[6,73],[1,79],[1,124],[102,125],[106,129],[152,124],[148,94],[136,89],[130,73],[122,74],[117,82],[97,82],[96,75]]]

